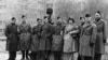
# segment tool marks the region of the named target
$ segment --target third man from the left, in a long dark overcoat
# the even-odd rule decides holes
[[[40,18],[37,19],[38,25],[31,29],[31,60],[38,60],[39,58],[39,43],[41,38],[41,30],[42,30],[42,20]],[[40,58],[39,58],[40,59]]]

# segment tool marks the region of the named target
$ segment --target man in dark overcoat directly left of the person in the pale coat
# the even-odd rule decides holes
[[[53,41],[52,41],[52,52],[54,60],[60,60],[63,50],[63,26],[62,18],[57,17],[56,25],[53,27]]]

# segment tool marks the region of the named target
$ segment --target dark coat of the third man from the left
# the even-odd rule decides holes
[[[38,25],[38,26],[35,26],[32,28],[31,45],[30,45],[30,50],[31,51],[38,51],[39,50],[41,30],[42,30],[42,25]]]

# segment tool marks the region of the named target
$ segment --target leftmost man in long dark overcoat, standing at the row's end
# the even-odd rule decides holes
[[[9,50],[9,60],[15,60],[16,51],[18,46],[18,30],[15,24],[15,17],[12,18],[12,22],[5,28],[6,40],[6,50]]]

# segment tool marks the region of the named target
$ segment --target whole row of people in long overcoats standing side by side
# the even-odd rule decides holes
[[[66,22],[57,17],[52,25],[44,16],[43,19],[37,18],[38,25],[31,28],[26,24],[26,16],[22,18],[22,24],[16,25],[13,17],[5,28],[9,60],[15,60],[18,50],[22,50],[22,60],[50,60],[51,54],[54,60],[75,60],[77,52],[78,60],[100,60],[105,52],[106,22],[99,11],[95,14],[95,21],[90,14],[80,17],[80,26],[70,17]]]

